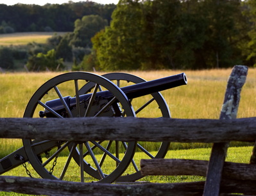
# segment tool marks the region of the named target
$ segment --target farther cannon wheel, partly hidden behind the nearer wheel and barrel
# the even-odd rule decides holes
[[[107,78],[108,80],[111,80],[112,82],[114,82],[118,87],[123,87],[126,85],[132,85],[132,84],[138,84],[141,82],[146,82],[146,80],[142,79],[141,77],[137,77],[136,75],[132,75],[129,73],[107,73],[102,76]],[[91,91],[92,87],[93,87],[93,84],[90,84],[90,83],[85,84],[85,86],[81,87],[80,94],[88,93],[88,91]],[[148,116],[145,116],[145,113],[144,113],[144,115],[142,114],[142,116],[140,116],[140,113],[142,111],[146,110],[146,113],[149,114],[150,109],[148,109],[148,105],[155,101],[157,103],[157,105],[155,105],[155,108],[153,108],[153,110],[154,110],[154,112],[155,112],[155,110],[160,110],[160,112],[158,112],[159,113],[158,115],[160,115],[160,116],[158,116],[158,117],[171,117],[171,114],[169,112],[169,107],[168,107],[166,101],[164,100],[162,94],[160,94],[159,92],[153,93],[153,94],[151,94],[151,96],[149,95],[145,98],[143,96],[143,97],[139,97],[137,99],[144,100],[144,102],[142,102],[142,105],[135,110],[136,116],[148,117]],[[131,104],[134,101],[135,100],[130,100]],[[153,145],[156,146],[155,148],[158,148],[157,153],[154,153],[154,154],[149,153],[149,151],[147,150],[147,146],[151,145],[152,143],[154,143]],[[169,144],[170,144],[169,142],[138,142],[137,143],[137,152],[145,153],[146,158],[164,158],[164,156],[166,156],[166,153],[169,149]],[[134,158],[140,159],[136,156],[139,156],[139,154],[137,155],[137,153],[135,153]],[[77,155],[74,158],[76,159],[76,162],[79,163],[78,162],[79,156]],[[123,182],[124,181],[136,181],[137,179],[140,179],[141,177],[142,177],[142,175],[141,175],[141,171],[139,169],[139,164],[135,163],[135,161],[132,160],[128,173],[124,172],[124,175],[120,176],[117,179],[117,181],[123,181]]]

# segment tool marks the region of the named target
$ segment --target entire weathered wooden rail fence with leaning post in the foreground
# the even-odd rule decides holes
[[[0,191],[44,195],[256,195],[256,147],[250,163],[225,162],[230,141],[256,139],[256,118],[235,119],[247,68],[235,66],[220,119],[143,119],[87,117],[72,119],[0,119],[0,137],[51,140],[126,140],[214,143],[210,160],[141,160],[146,175],[206,176],[192,183],[75,183],[0,176]]]

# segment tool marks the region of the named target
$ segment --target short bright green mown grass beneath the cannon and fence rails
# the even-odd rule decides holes
[[[235,163],[248,163],[250,160],[250,155],[252,153],[252,147],[229,147],[228,153],[226,156],[227,162],[235,162]],[[99,156],[99,155],[97,155]],[[135,158],[135,162],[139,164],[141,158],[147,158],[144,153],[140,154],[140,158]],[[200,149],[186,149],[186,150],[176,150],[176,151],[168,151],[166,158],[178,158],[178,159],[191,159],[191,160],[209,160],[210,157],[210,148],[200,148]],[[66,157],[58,158],[58,163],[64,163]],[[33,177],[38,177],[37,173],[32,169],[31,165],[27,163],[28,169],[30,170]],[[106,165],[106,167],[111,172],[114,167],[111,164]],[[79,176],[76,175],[76,172],[79,172],[78,165],[73,163],[72,166],[69,168],[69,175],[65,179],[67,181],[78,181]],[[130,169],[131,170],[131,169]],[[128,174],[130,170],[126,170],[125,174]],[[61,169],[55,167],[55,172],[60,173]],[[19,166],[9,172],[6,172],[4,175],[6,176],[25,176],[28,177],[26,174],[26,170],[24,167]],[[90,176],[85,174],[85,180],[87,182],[94,181]],[[203,181],[205,177],[203,176],[146,176],[140,179],[139,181],[148,181],[151,183],[181,183],[181,182],[192,182],[192,181]],[[22,195],[17,193],[9,193],[10,195]],[[6,195],[4,192],[0,192],[0,195]]]

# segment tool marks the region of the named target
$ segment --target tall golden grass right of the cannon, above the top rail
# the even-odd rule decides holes
[[[152,80],[168,75],[185,72],[187,86],[163,91],[171,110],[172,117],[187,119],[218,119],[223,104],[228,77],[232,68],[219,70],[166,70],[151,72],[132,72],[140,77]],[[237,117],[255,116],[256,69],[250,68],[241,92],[241,101]]]

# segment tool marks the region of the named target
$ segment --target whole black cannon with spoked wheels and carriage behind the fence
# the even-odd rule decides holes
[[[131,84],[131,85],[130,85]],[[48,80],[33,94],[24,117],[171,117],[162,94],[187,84],[185,73],[146,81],[128,73],[71,72]],[[138,106],[139,105],[139,106]],[[29,162],[40,177],[68,181],[136,181],[141,158],[164,158],[169,142],[22,140],[1,158],[0,174]],[[154,145],[155,152],[148,146]],[[63,154],[67,156],[62,156]]]

